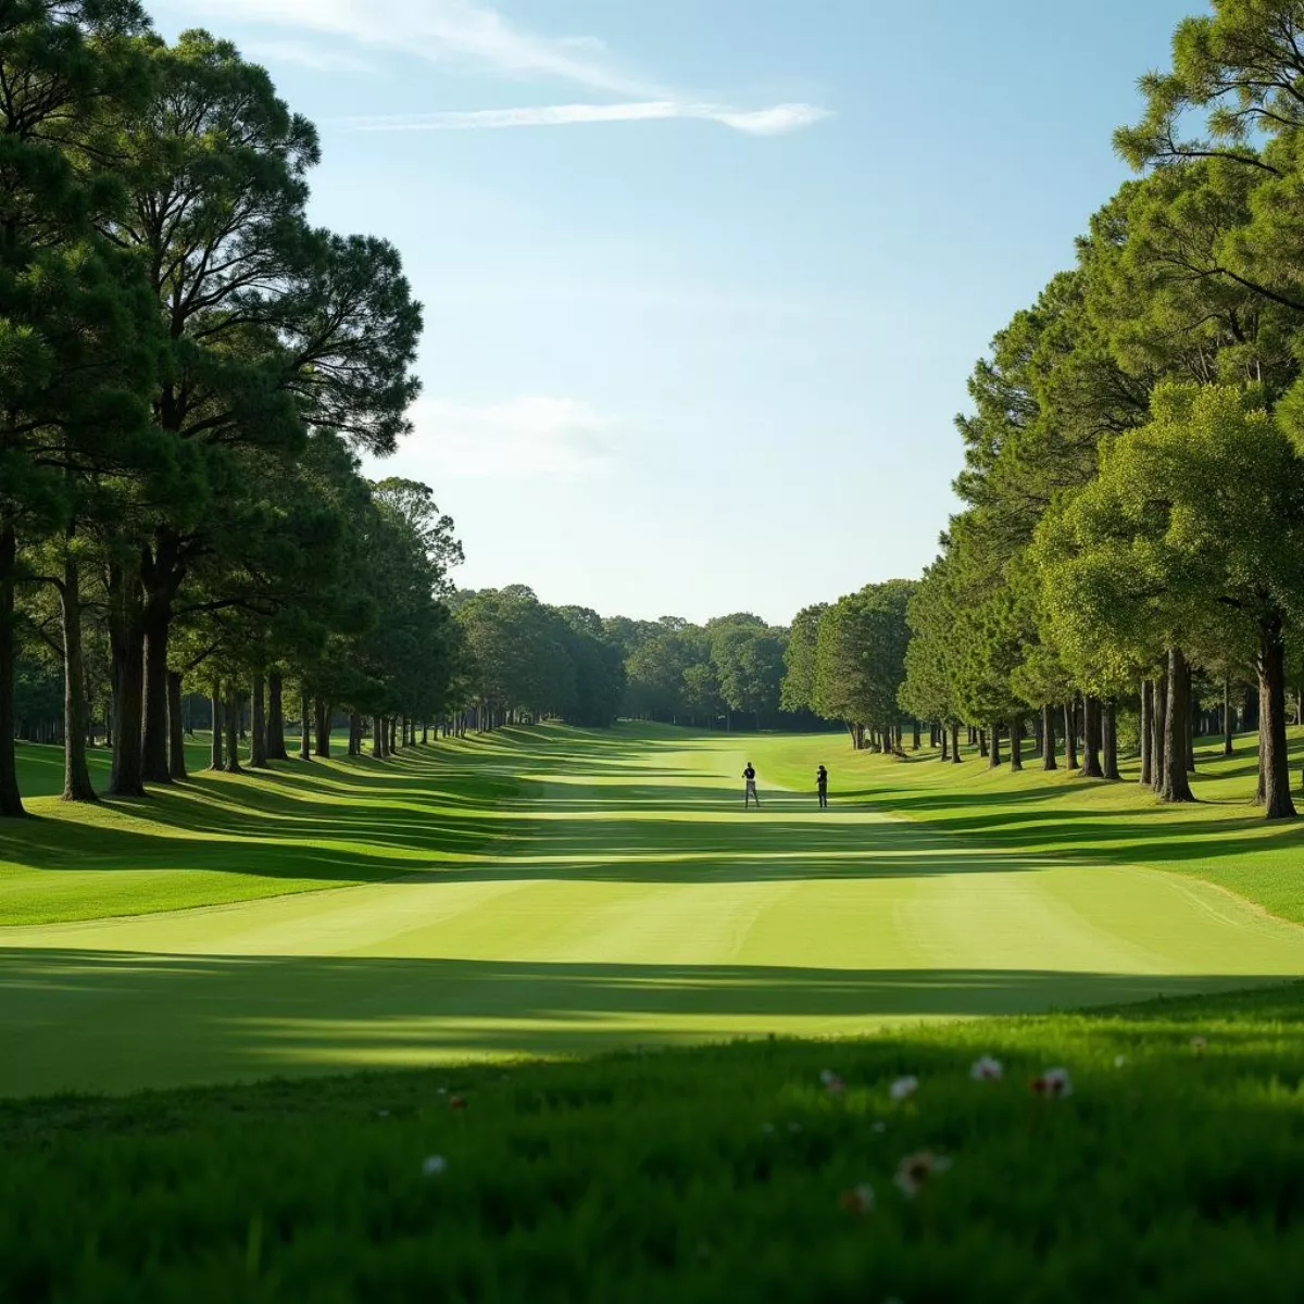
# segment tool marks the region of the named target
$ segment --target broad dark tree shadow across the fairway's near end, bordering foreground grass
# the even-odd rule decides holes
[[[1120,1005],[1281,981],[13,948],[0,949],[0,1094],[850,1034],[898,1020]]]

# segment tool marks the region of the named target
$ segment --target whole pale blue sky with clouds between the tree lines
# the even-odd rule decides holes
[[[1200,0],[166,0],[402,250],[466,587],[692,619],[915,575],[987,340]]]

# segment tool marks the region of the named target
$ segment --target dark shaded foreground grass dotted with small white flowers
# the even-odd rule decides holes
[[[1301,1013],[1294,986],[0,1104],[0,1297],[1296,1300]],[[1067,1099],[1029,1091],[1052,1065]],[[910,1197],[919,1151],[945,1163]]]

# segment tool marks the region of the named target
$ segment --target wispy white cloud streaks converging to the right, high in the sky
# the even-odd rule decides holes
[[[488,69],[512,78],[550,78],[600,95],[614,104],[561,104],[496,108],[407,117],[353,119],[370,130],[467,130],[505,126],[570,126],[583,123],[632,123],[702,119],[751,136],[781,136],[831,116],[815,104],[734,108],[703,103],[636,76],[592,35],[545,37],[510,22],[479,0],[164,0],[173,8],[283,31],[313,33],[374,50],[402,51],[434,63]],[[343,56],[295,40],[274,40],[278,57],[326,72],[361,70]],[[266,57],[274,57],[266,55]]]

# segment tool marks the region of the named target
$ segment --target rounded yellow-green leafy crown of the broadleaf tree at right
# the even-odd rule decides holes
[[[1127,677],[1161,647],[1253,636],[1304,592],[1300,462],[1256,396],[1166,386],[1097,480],[1043,522],[1050,617],[1078,661]]]

